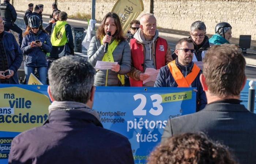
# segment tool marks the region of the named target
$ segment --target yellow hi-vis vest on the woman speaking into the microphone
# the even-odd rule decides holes
[[[102,39],[101,39],[101,44],[102,44]],[[103,56],[102,61],[106,61],[106,62],[114,62],[114,58],[113,58],[113,52],[116,49],[116,46],[118,45],[118,41],[114,40],[111,44],[109,44],[108,46],[108,51],[107,53],[105,53],[105,55]],[[121,68],[120,68],[121,69]],[[117,74],[118,79],[120,80],[121,84],[124,85],[124,75],[120,75]],[[108,83],[108,70],[106,73],[106,86]]]

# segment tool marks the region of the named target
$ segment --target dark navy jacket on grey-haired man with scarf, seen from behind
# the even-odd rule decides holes
[[[131,144],[82,110],[55,110],[12,140],[10,164],[133,164]]]

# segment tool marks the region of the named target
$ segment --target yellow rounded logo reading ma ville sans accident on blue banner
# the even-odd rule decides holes
[[[0,131],[23,132],[48,118],[50,99],[19,87],[0,88]]]

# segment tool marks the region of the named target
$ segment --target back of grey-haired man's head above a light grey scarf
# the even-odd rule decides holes
[[[55,101],[86,103],[91,95],[95,69],[85,58],[64,56],[48,71],[50,92]]]

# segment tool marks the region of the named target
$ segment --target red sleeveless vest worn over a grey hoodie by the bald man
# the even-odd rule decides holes
[[[155,43],[155,64],[156,69],[160,69],[161,67],[165,66],[165,54],[167,51],[167,41],[163,38],[158,38]],[[144,46],[143,44],[137,43],[136,39],[130,40],[130,47],[131,47],[131,54],[132,54],[132,62],[133,67],[135,67],[137,70],[140,70],[144,72]],[[133,78],[130,79],[130,85],[131,86],[137,86],[142,87],[143,82],[142,81],[136,81]]]

